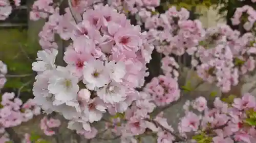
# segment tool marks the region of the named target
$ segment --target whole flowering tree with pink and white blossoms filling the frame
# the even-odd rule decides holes
[[[65,1],[37,0],[31,8],[32,20],[46,19],[39,33],[42,50],[32,64],[37,73],[34,99],[23,104],[14,93],[4,93],[2,142],[20,142],[10,127],[28,121],[41,109],[48,114],[40,124],[46,135],[57,134],[61,122],[54,116],[58,113],[69,129],[89,140],[101,138],[106,131],[112,136],[101,139],[121,142],[141,142],[144,136],[164,143],[253,142],[256,138],[254,87],[242,96],[230,92],[254,73],[256,11],[252,7],[237,8],[231,19],[246,30],[241,34],[227,25],[204,29],[199,20],[188,19],[184,8],[158,13],[157,0]],[[1,0],[1,19],[12,8],[8,0]],[[69,45],[59,46],[56,35]],[[151,62],[157,61],[154,53],[160,57],[157,64]],[[57,64],[57,55],[63,55],[65,65]],[[188,67],[181,59],[184,55],[191,58]],[[182,80],[186,69],[197,73],[196,87]],[[15,75],[7,74],[3,62],[0,71],[3,87],[5,77]],[[207,101],[207,95],[187,101],[185,116],[173,128],[163,116],[165,109],[205,82],[217,86],[221,96],[213,102]],[[104,123],[103,129],[96,123]],[[25,135],[26,142],[31,142],[29,136]]]

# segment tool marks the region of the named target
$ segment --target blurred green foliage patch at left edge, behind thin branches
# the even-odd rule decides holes
[[[1,29],[0,30],[0,60],[7,64],[9,75],[32,74],[32,61],[36,58],[39,47],[32,47],[27,42],[27,31],[18,29]],[[17,92],[18,89],[34,77],[7,78],[3,91]],[[23,100],[30,98],[32,82],[22,88],[21,93]]]

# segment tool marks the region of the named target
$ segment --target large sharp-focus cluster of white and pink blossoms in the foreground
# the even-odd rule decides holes
[[[51,16],[50,25],[51,19],[59,28],[67,23]],[[63,57],[67,66],[55,65],[55,48],[39,51],[32,64],[38,73],[34,101],[46,112],[71,120],[69,128],[79,133],[92,132],[90,124],[100,121],[103,113],[124,112],[137,99],[135,88],[144,84],[145,64],[154,49],[146,32],[109,6],[95,6],[82,17],[71,31],[59,33],[72,39]]]

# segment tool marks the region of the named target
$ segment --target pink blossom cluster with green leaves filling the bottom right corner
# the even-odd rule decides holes
[[[179,123],[179,132],[184,137],[187,137],[189,132],[201,135],[207,133],[204,138],[210,137],[212,142],[251,142],[252,138],[255,138],[256,130],[254,125],[247,121],[251,116],[250,111],[254,112],[255,107],[255,97],[249,93],[245,93],[242,98],[234,99],[232,104],[216,98],[214,108],[208,108],[206,99],[199,97],[185,104],[186,115]],[[203,112],[203,115],[197,115],[190,110],[191,108]],[[196,141],[199,141],[197,139]]]

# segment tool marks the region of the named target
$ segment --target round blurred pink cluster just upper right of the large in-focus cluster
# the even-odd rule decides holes
[[[155,14],[145,21],[145,28],[150,31],[155,41],[156,50],[166,56],[193,54],[194,47],[204,36],[204,29],[199,20],[188,20],[189,12],[171,7],[165,13]]]

